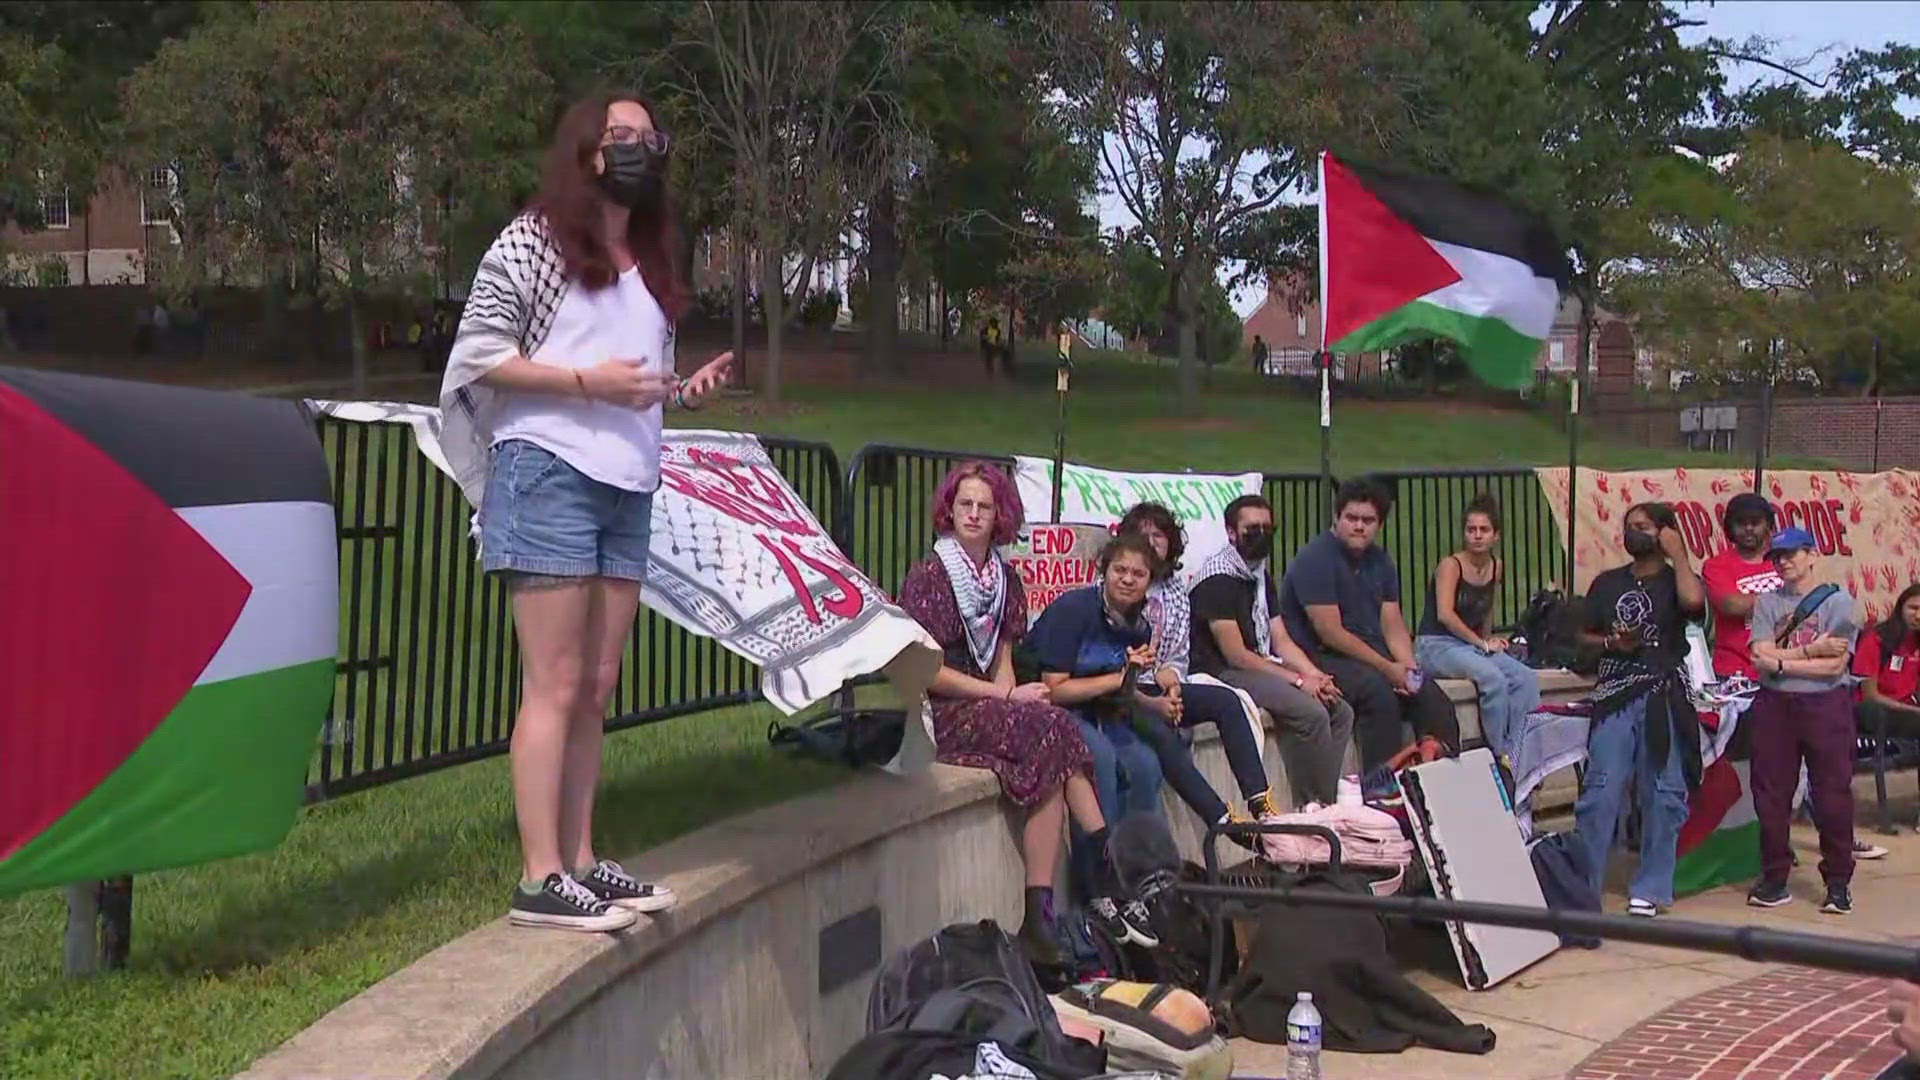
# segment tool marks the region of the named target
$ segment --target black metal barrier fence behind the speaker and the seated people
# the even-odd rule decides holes
[[[419,452],[405,425],[319,421],[340,519],[340,682],[309,773],[309,801],[430,773],[507,749],[518,707],[518,650],[507,594],[480,573],[470,509]],[[931,502],[964,459],[1010,457],[866,446],[847,471],[820,442],[762,438],[781,477],[876,586],[895,594],[933,542]],[[1427,578],[1459,540],[1476,492],[1505,509],[1507,577],[1498,615],[1515,619],[1561,559],[1551,515],[1528,469],[1392,473],[1396,509],[1380,542],[1400,565],[1417,621]],[[1275,571],[1329,525],[1319,477],[1269,473]],[[1044,517],[1046,507],[1029,507]],[[609,728],[743,705],[758,673],[718,642],[641,611]]]

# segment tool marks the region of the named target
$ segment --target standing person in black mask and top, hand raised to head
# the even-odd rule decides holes
[[[1699,713],[1684,663],[1686,625],[1705,613],[1707,592],[1670,505],[1634,505],[1622,527],[1632,561],[1601,571],[1586,590],[1584,636],[1601,655],[1572,815],[1597,890],[1626,790],[1640,792],[1640,869],[1626,888],[1626,913],[1653,919],[1674,901],[1680,826],[1701,776]]]

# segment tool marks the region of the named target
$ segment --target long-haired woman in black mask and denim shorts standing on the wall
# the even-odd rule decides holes
[[[630,94],[561,115],[540,194],[480,259],[440,388],[442,448],[480,511],[480,565],[507,582],[520,644],[522,872],[509,919],[522,926],[618,930],[674,903],[593,853],[601,730],[660,486],[660,409],[695,407],[733,361],[674,373],[687,286],[666,152]]]

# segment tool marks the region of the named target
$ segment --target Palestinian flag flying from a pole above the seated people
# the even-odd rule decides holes
[[[1321,154],[1327,352],[1446,338],[1494,386],[1532,382],[1572,267],[1546,221],[1452,181]]]

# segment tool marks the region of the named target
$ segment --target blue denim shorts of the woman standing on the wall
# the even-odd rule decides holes
[[[603,484],[520,438],[497,444],[492,457],[480,569],[647,580],[653,492]]]

